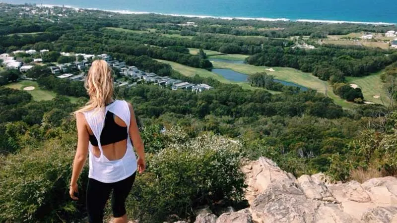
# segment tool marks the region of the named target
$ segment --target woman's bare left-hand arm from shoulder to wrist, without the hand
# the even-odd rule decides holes
[[[85,161],[87,160],[89,134],[85,122],[84,115],[82,113],[78,113],[76,115],[78,134],[77,150],[76,155],[74,156],[73,172],[71,175],[70,185],[77,185],[78,177],[84,167]]]

